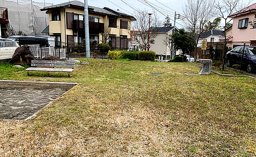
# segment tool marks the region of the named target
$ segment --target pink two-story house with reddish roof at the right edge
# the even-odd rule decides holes
[[[256,3],[229,16],[233,19],[232,33],[227,36],[228,47],[256,45],[256,29],[253,20],[256,18]],[[249,23],[249,24],[248,24]],[[252,25],[250,25],[252,24]]]

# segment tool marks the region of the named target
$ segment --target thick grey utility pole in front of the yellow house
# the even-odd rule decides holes
[[[87,0],[84,0],[84,29],[85,29],[86,58],[90,58],[89,15],[88,15],[88,1]]]

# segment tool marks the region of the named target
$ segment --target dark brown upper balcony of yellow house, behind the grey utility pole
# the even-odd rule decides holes
[[[82,20],[73,20],[73,32],[84,33],[84,21]],[[90,34],[99,34],[104,33],[104,23],[97,23],[89,21],[89,33]]]

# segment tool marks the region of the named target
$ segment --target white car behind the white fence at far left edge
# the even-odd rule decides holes
[[[18,48],[18,42],[11,39],[0,38],[0,59],[10,59]]]

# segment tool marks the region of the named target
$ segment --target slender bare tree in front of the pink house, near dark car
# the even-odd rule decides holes
[[[224,26],[224,46],[222,52],[222,70],[224,70],[225,64],[225,56],[226,56],[226,47],[227,47],[227,39],[226,39],[226,31],[227,24],[236,18],[240,13],[244,10],[242,8],[245,7],[245,4],[241,2],[241,0],[219,0],[215,6],[218,10],[219,16],[225,20]],[[246,9],[246,8],[245,8]],[[233,15],[233,16],[232,16]]]

